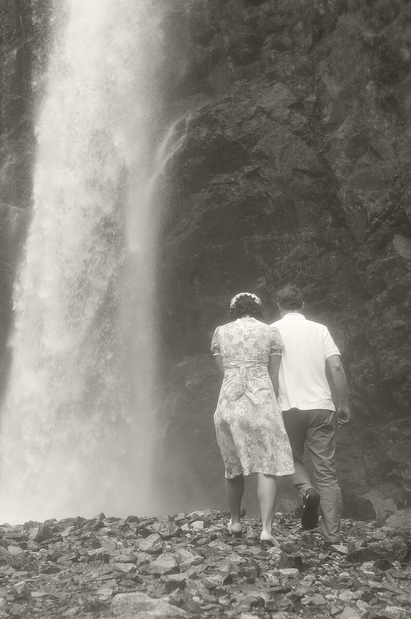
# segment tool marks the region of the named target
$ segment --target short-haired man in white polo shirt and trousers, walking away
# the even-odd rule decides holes
[[[341,491],[335,475],[335,407],[326,378],[331,371],[339,407],[339,427],[348,423],[348,390],[340,351],[326,326],[306,320],[301,313],[303,295],[287,286],[277,295],[281,320],[279,329],[284,348],[279,372],[279,405],[293,451],[295,474],[292,482],[303,501],[301,525],[314,529],[321,508],[321,530],[327,546],[340,542]],[[313,462],[317,490],[306,472],[304,447]]]

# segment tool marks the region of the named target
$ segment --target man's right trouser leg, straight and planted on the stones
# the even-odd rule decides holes
[[[335,474],[335,412],[309,410],[306,446],[321,496],[321,530],[326,542],[340,542],[341,491]]]

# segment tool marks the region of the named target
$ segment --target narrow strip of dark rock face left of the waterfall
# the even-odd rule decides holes
[[[0,391],[6,379],[15,267],[30,218],[34,124],[50,28],[49,0],[0,7]]]

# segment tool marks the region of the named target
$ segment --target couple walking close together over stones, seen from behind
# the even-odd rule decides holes
[[[347,381],[340,352],[327,327],[306,320],[303,296],[287,286],[277,295],[281,319],[261,322],[261,300],[241,292],[231,299],[235,319],[215,329],[211,350],[223,383],[214,415],[225,465],[230,535],[241,537],[244,475],[256,473],[262,545],[272,535],[277,475],[292,475],[303,503],[301,525],[314,529],[321,509],[324,543],[340,542],[341,492],[335,475],[335,407],[326,378],[339,397],[339,427],[348,423]],[[303,454],[313,462],[316,489]]]

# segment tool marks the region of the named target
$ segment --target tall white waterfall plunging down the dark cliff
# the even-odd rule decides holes
[[[9,522],[156,509],[158,6],[54,4],[1,412]]]

